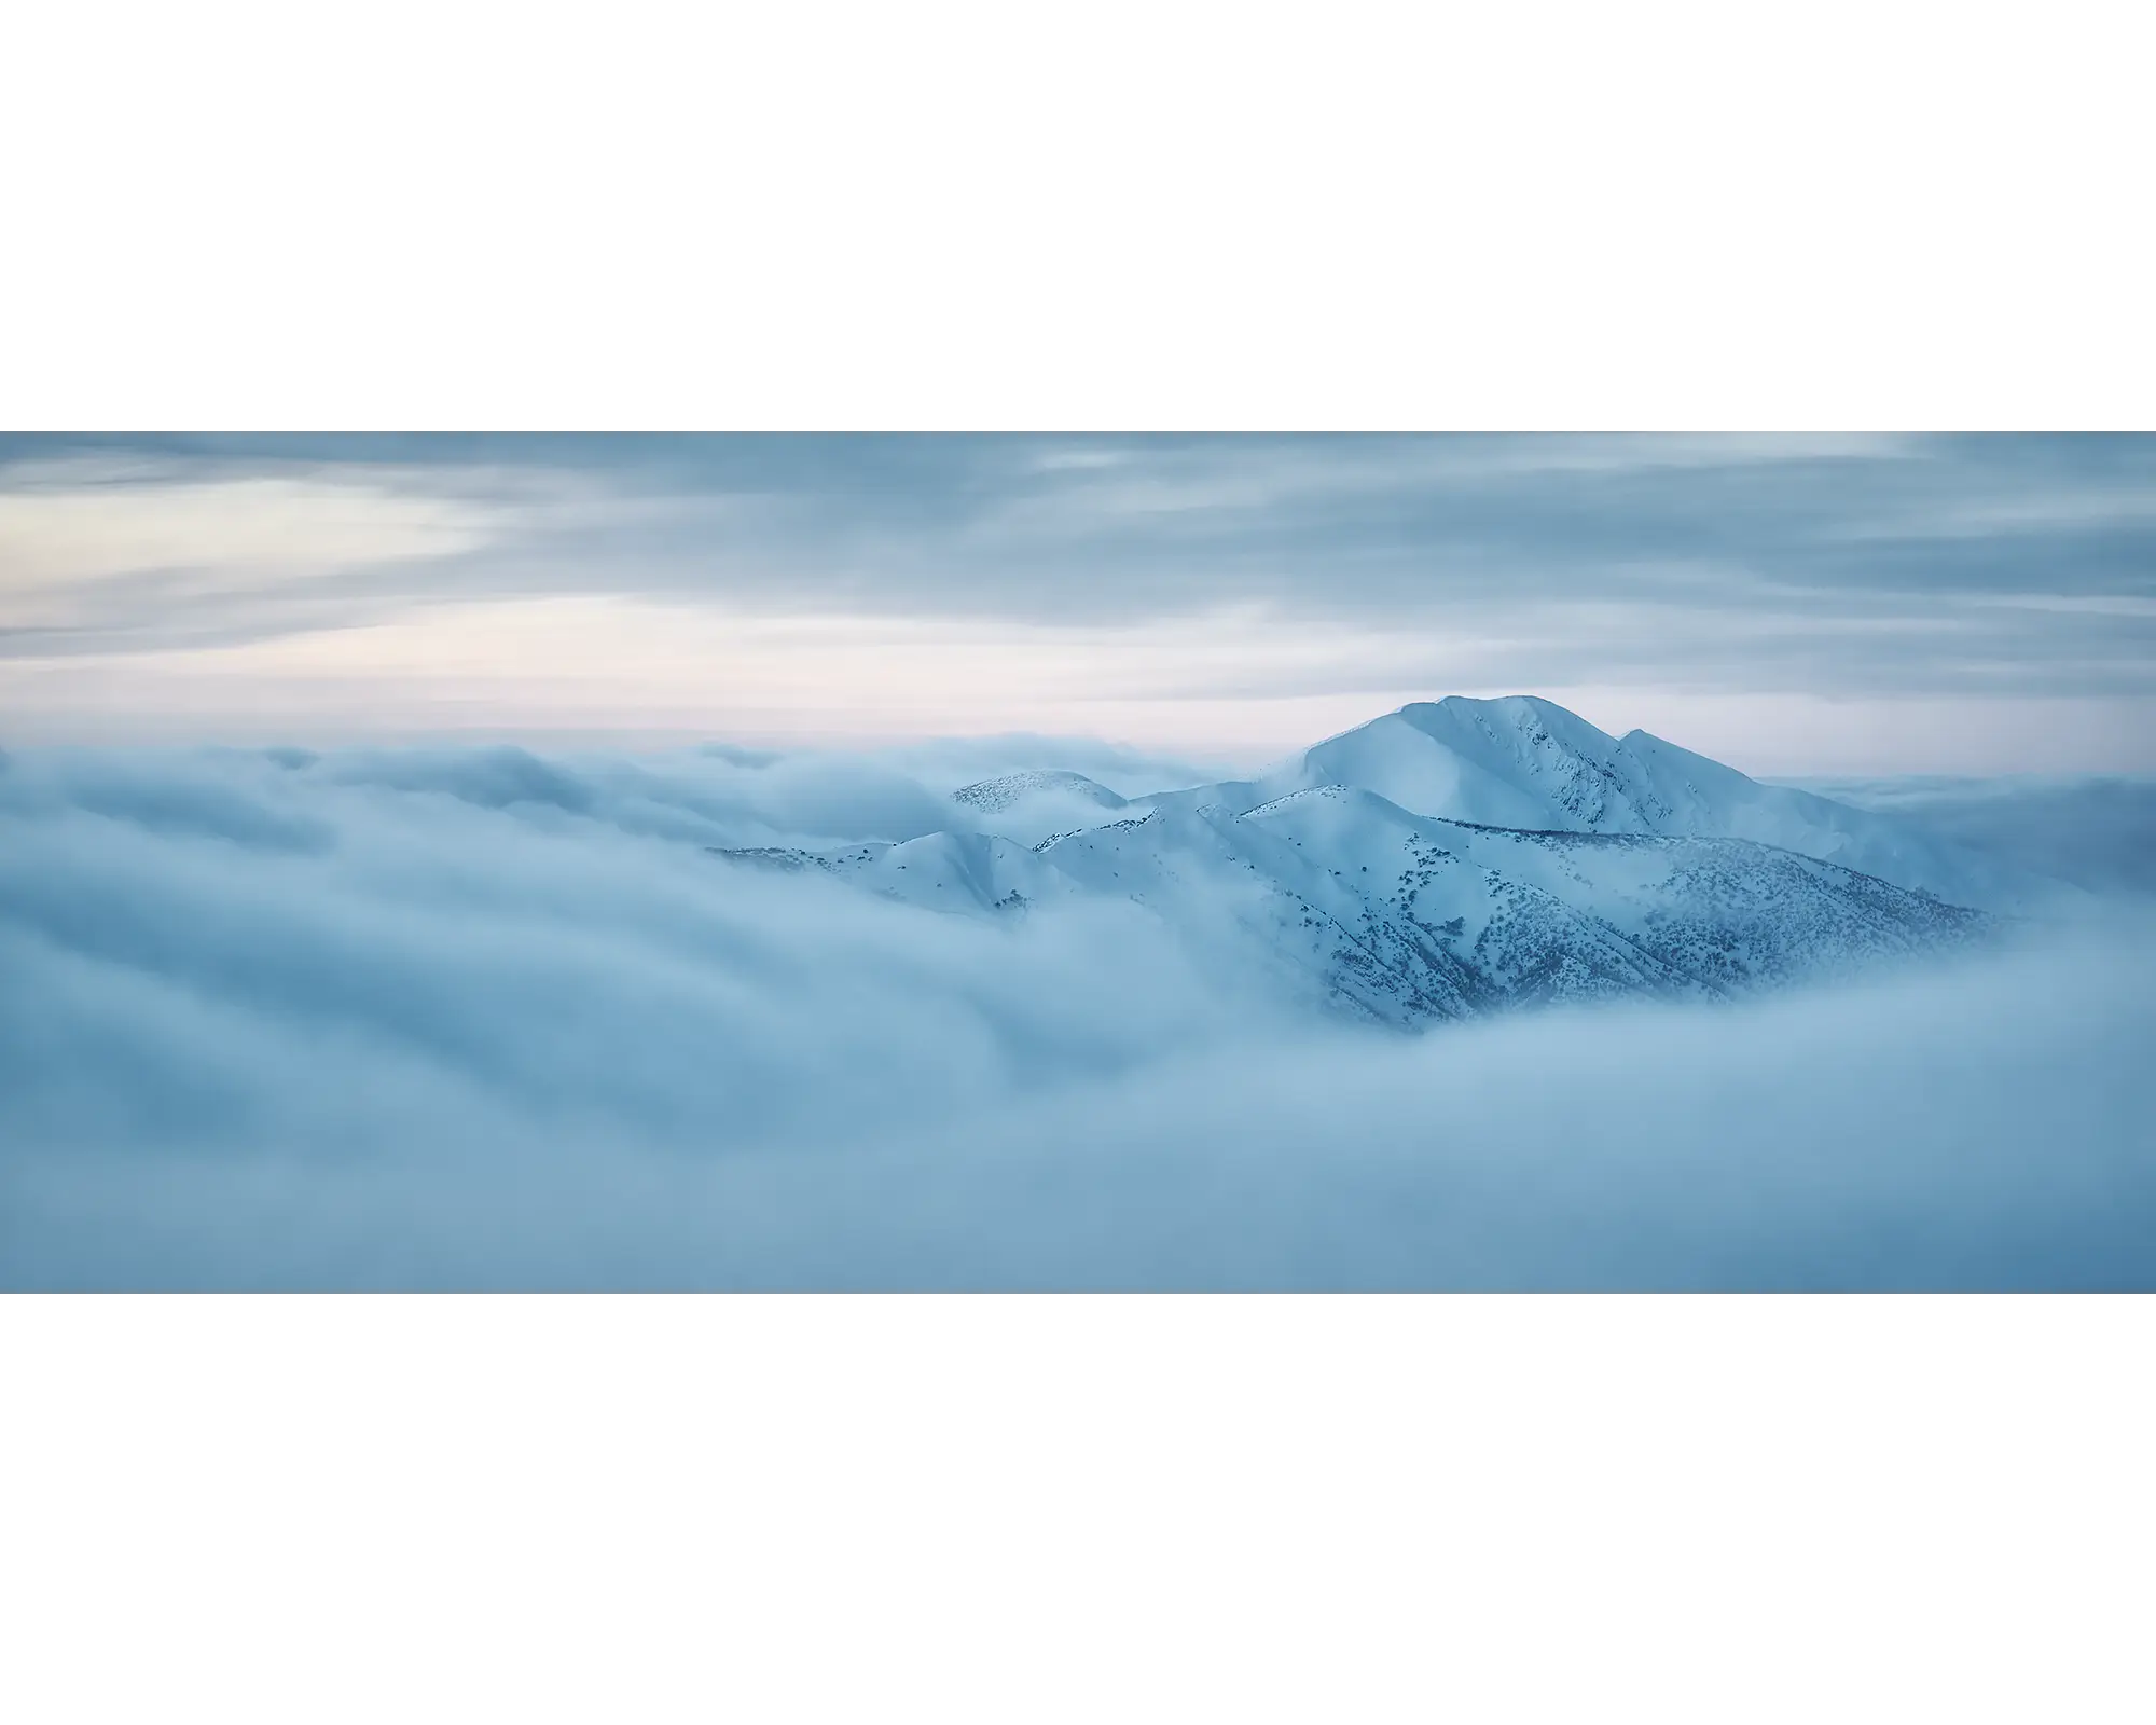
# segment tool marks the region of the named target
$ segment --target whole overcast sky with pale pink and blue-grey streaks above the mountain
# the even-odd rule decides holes
[[[2156,770],[2156,438],[0,438],[0,735]]]

